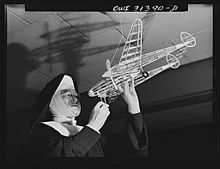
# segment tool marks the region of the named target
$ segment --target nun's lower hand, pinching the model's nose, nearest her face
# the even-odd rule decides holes
[[[99,131],[109,115],[109,105],[101,101],[98,102],[90,114],[88,126]]]

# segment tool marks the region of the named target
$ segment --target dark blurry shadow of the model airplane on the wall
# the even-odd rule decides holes
[[[45,23],[45,25],[47,25],[47,23]],[[31,58],[34,60],[46,58],[42,63],[48,63],[50,71],[53,71],[52,64],[62,63],[65,72],[70,73],[73,77],[78,77],[77,69],[84,65],[82,63],[84,57],[117,47],[117,44],[113,44],[83,50],[84,45],[90,42],[86,34],[117,25],[118,24],[113,21],[108,21],[85,25],[73,25],[74,28],[64,27],[53,32],[46,32],[42,34],[40,38],[47,40],[48,45],[32,50]]]

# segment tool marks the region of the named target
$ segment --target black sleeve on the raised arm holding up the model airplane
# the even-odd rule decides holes
[[[148,156],[149,139],[142,114],[128,114],[127,119],[126,130],[135,154],[138,156]]]

